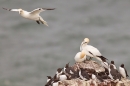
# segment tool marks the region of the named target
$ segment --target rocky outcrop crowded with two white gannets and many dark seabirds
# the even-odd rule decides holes
[[[81,43],[80,52],[74,57],[75,64],[69,66],[67,63],[65,67],[58,68],[53,77],[47,76],[45,86],[117,86],[112,83],[127,80],[129,76],[124,64],[121,64],[118,70],[114,61],[108,63],[108,59],[88,43],[89,39],[85,38]],[[99,63],[93,61],[92,58],[99,60]]]

